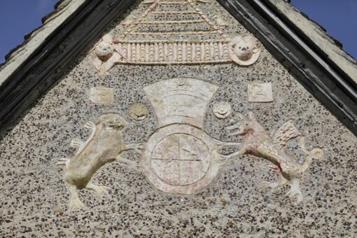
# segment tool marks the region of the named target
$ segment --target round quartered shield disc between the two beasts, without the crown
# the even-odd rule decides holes
[[[214,163],[216,149],[202,130],[190,125],[169,125],[148,140],[141,167],[159,190],[194,194],[206,188],[218,173],[219,164]]]

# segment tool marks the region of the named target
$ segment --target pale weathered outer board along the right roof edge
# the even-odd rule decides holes
[[[356,59],[342,50],[342,43],[327,34],[321,25],[309,19],[306,14],[290,3],[281,0],[263,0],[263,2],[272,8],[286,24],[300,31],[299,35],[304,35],[304,40],[314,45],[314,50],[320,51],[321,55],[325,55],[329,64],[335,64],[340,69],[337,71],[343,71],[354,83],[357,83]]]

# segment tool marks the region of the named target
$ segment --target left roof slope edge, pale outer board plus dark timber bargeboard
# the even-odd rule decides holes
[[[45,17],[43,27],[0,67],[0,140],[134,1],[59,2],[55,13]]]

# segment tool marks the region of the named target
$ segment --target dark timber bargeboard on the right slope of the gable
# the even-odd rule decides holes
[[[357,135],[356,81],[289,22],[272,4],[274,0],[217,1],[254,34],[305,89]]]

